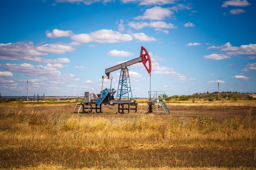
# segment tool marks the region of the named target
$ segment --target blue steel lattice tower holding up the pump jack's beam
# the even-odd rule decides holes
[[[130,98],[131,100],[134,99],[132,96],[131,81],[130,81],[128,68],[121,69],[121,73],[119,77],[116,100],[117,98],[121,100],[122,97],[128,97],[128,100],[130,100]]]

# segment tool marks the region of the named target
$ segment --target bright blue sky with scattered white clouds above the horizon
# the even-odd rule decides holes
[[[26,96],[27,79],[29,96],[99,94],[105,69],[141,46],[151,91],[256,92],[253,0],[1,0],[0,16],[2,96]],[[128,69],[133,96],[148,97],[143,64]]]

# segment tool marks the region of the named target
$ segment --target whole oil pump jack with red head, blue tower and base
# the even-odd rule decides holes
[[[142,62],[145,66],[145,69],[148,71],[148,74],[151,74],[150,56],[148,54],[148,51],[143,46],[141,46],[140,57],[105,69],[106,76],[102,76],[101,93],[91,94],[90,92],[84,92],[84,103],[78,103],[74,109],[74,113],[92,113],[94,109],[96,113],[102,113],[103,105],[117,105],[118,113],[124,113],[124,110],[128,110],[128,113],[130,112],[130,110],[135,110],[135,112],[137,112],[137,103],[133,98],[129,69],[127,67],[139,62]],[[119,76],[118,88],[116,91],[114,88],[111,89],[113,77],[111,77],[110,74],[111,72],[119,69],[121,71]],[[110,88],[105,88],[103,90],[104,79],[110,79],[111,85]],[[114,98],[115,94],[116,99]],[[93,99],[91,99],[91,95],[93,95]],[[95,108],[93,107],[94,105]],[[125,105],[128,105],[128,108],[125,108]],[[135,108],[130,108],[130,106],[135,106]]]

